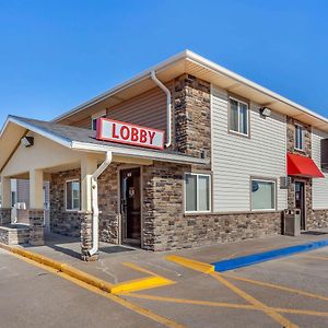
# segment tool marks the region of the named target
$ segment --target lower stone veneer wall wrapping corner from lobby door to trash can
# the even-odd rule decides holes
[[[190,166],[143,167],[143,247],[150,250],[235,242],[281,233],[281,212],[184,214],[184,173]]]

